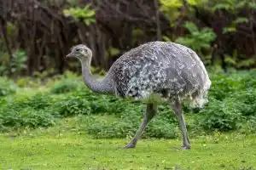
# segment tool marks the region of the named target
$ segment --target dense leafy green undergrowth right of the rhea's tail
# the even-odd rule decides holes
[[[199,127],[220,131],[241,128],[242,123],[254,120],[256,105],[255,71],[230,75],[213,75],[210,103],[197,117]],[[253,128],[251,121],[248,128]]]

